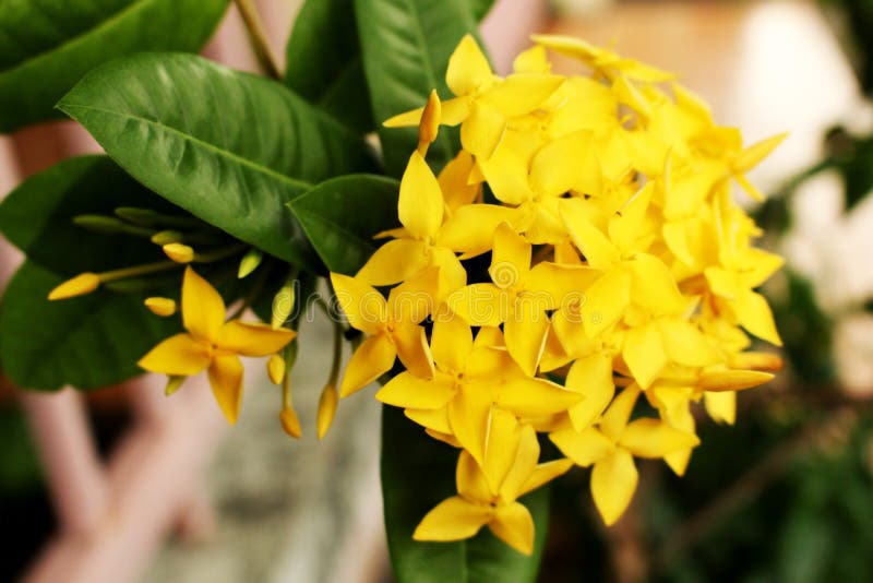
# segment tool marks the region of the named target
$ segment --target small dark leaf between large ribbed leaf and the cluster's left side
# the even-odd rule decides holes
[[[327,180],[289,206],[319,257],[335,273],[354,275],[373,254],[373,235],[399,226],[399,183],[383,176]]]

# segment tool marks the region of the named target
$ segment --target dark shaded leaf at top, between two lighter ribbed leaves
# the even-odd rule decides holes
[[[307,0],[286,55],[285,83],[298,95],[361,133],[374,128],[352,0]]]

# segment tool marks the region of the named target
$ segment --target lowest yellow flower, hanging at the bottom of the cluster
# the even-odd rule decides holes
[[[499,421],[498,421],[499,423]],[[565,473],[573,464],[557,460],[537,464],[539,443],[530,426],[515,428],[501,448],[501,472],[491,486],[467,452],[457,461],[458,495],[431,510],[412,534],[416,540],[459,540],[488,525],[495,536],[519,552],[534,551],[534,520],[516,500]]]

